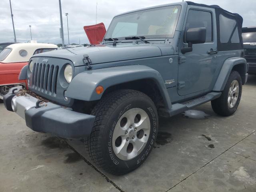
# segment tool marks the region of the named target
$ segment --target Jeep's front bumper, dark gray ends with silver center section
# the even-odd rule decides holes
[[[37,98],[28,94],[19,96],[12,93],[12,90],[14,88],[4,96],[4,106],[25,119],[26,125],[32,130],[62,138],[80,139],[90,135],[95,116],[75,112],[51,102],[36,107]]]

